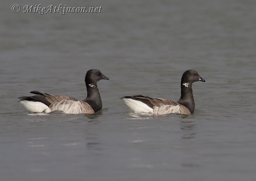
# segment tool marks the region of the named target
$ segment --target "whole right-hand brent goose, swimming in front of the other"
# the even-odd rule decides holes
[[[192,83],[196,81],[205,82],[195,70],[187,70],[183,73],[180,83],[181,96],[177,102],[142,95],[124,96],[121,99],[134,112],[147,112],[159,115],[169,113],[191,114],[195,110]]]

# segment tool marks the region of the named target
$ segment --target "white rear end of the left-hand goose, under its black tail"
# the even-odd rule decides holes
[[[49,111],[51,112],[51,109],[46,106],[44,103],[42,102],[33,102],[33,101],[20,101],[20,103],[25,106],[28,111],[31,111],[31,112],[43,112],[45,110],[45,112]]]

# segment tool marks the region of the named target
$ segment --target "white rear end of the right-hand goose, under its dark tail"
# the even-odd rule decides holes
[[[134,112],[153,113],[153,109],[138,100],[123,98],[124,103]]]

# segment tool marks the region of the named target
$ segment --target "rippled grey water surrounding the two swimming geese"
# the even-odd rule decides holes
[[[16,3],[0,11],[1,180],[256,180],[255,1],[37,2],[103,7],[64,15]],[[109,78],[96,114],[17,102],[32,90],[84,99],[91,68]],[[206,80],[193,83],[194,114],[134,114],[119,99],[177,101],[187,69]]]

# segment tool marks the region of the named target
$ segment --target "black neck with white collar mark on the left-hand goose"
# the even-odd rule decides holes
[[[100,92],[98,90],[97,84],[86,83],[86,89],[87,89],[87,97],[86,99],[84,99],[84,101],[90,104],[90,106],[92,106],[92,109],[94,110],[94,112],[99,111],[102,108],[102,102],[101,102]]]

